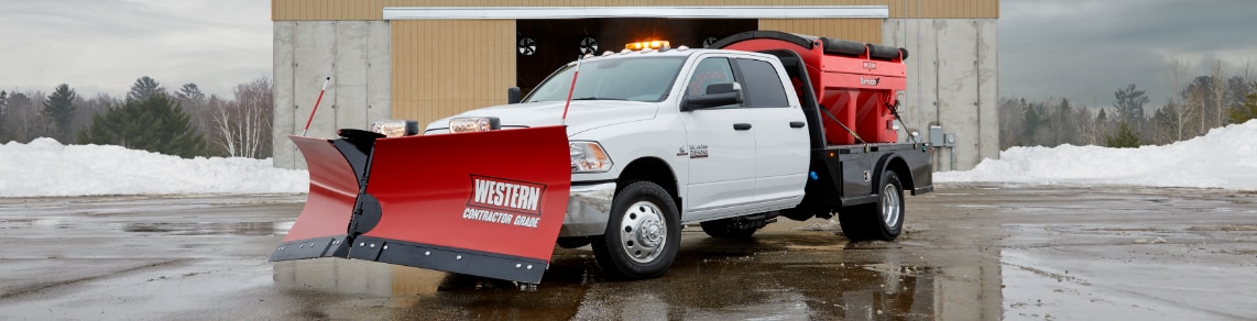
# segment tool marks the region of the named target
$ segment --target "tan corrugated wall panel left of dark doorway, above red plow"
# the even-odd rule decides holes
[[[420,127],[507,103],[515,79],[515,20],[392,21],[392,114]]]

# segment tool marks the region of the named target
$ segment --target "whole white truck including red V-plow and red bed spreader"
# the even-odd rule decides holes
[[[837,213],[851,241],[892,241],[904,192],[933,191],[933,149],[895,123],[906,50],[776,31],[719,49],[660,43],[586,56],[522,99],[514,89],[510,104],[422,130],[402,122],[293,137],[310,196],[272,260],[535,283],[557,238],[639,280],[671,266],[685,224],[745,238],[777,217]]]

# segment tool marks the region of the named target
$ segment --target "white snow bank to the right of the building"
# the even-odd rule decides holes
[[[1140,148],[1014,147],[967,172],[934,182],[1129,184],[1257,189],[1257,120],[1216,128],[1169,145]]]

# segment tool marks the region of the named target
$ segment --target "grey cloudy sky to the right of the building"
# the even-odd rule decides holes
[[[1117,88],[1135,83],[1161,105],[1175,87],[1166,79],[1173,59],[1190,65],[1190,78],[1218,60],[1231,75],[1257,64],[1251,36],[1257,1],[1003,0],[1001,6],[1002,97],[1111,105]]]

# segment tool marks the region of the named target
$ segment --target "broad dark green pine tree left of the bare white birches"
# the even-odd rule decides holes
[[[146,99],[127,99],[92,118],[79,132],[80,144],[114,144],[170,155],[205,155],[205,139],[192,129],[189,115],[175,99],[156,93]]]

